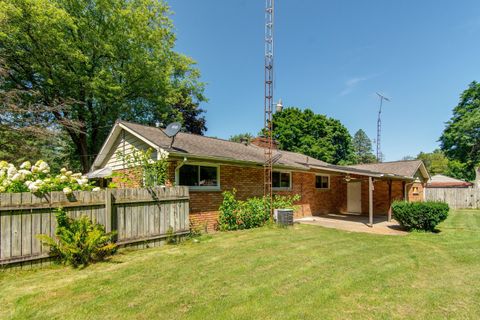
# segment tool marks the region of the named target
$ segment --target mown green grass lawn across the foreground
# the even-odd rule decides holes
[[[439,229],[262,228],[84,270],[3,272],[0,318],[479,318],[480,211],[453,212]]]

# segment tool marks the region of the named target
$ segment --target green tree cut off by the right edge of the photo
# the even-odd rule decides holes
[[[463,164],[463,178],[475,178],[475,167],[480,164],[479,83],[472,82],[461,94],[460,102],[453,109],[453,116],[440,137],[440,146],[450,160]]]

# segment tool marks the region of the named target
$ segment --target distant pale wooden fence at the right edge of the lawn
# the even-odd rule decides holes
[[[479,188],[426,188],[427,201],[442,201],[453,209],[480,209]]]

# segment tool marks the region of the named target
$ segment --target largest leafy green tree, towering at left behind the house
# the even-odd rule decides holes
[[[21,118],[68,135],[83,171],[115,120],[205,120],[194,61],[173,51],[161,0],[0,0],[0,92]]]

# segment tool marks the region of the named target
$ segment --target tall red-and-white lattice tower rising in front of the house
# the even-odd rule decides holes
[[[273,111],[273,19],[274,0],[265,0],[265,99],[264,99],[264,131],[267,146],[264,149],[264,188],[265,201],[272,210],[272,111]]]

